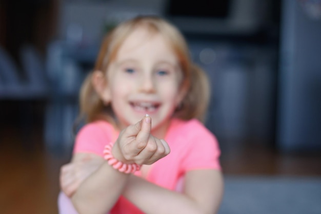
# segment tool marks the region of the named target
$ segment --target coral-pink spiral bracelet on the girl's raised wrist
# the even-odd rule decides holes
[[[104,158],[108,161],[108,164],[111,165],[114,169],[117,169],[119,172],[122,173],[134,173],[141,168],[141,165],[136,163],[126,164],[122,161],[118,161],[114,158],[111,153],[111,148],[113,147],[114,143],[109,143],[105,146],[104,149]]]

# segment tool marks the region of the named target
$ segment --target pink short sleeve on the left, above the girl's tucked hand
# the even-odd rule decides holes
[[[104,147],[112,139],[108,126],[104,128],[99,123],[85,125],[76,135],[73,153],[94,153],[104,157]]]

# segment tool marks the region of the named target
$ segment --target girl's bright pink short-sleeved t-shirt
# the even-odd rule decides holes
[[[114,142],[118,132],[106,121],[85,125],[77,134],[74,153],[95,153],[103,157],[107,143]],[[146,180],[175,190],[180,178],[193,169],[220,170],[220,150],[215,136],[196,119],[172,119],[165,137],[171,153],[152,164]],[[140,172],[135,175],[140,176]],[[119,198],[112,214],[143,213],[124,197]]]

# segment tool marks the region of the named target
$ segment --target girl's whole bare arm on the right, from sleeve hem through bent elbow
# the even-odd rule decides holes
[[[183,194],[130,176],[123,195],[146,213],[216,213],[223,195],[218,170],[191,170],[185,175]]]

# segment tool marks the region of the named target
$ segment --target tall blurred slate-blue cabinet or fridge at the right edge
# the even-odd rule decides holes
[[[277,145],[320,151],[321,3],[282,2]]]

